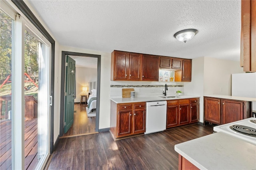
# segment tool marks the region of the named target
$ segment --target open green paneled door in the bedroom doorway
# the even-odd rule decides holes
[[[64,133],[73,125],[74,122],[74,99],[76,85],[76,61],[66,55],[66,93],[65,93],[65,123]]]

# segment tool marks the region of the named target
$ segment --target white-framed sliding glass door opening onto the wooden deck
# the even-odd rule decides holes
[[[41,169],[50,155],[51,43],[6,1],[0,7],[0,169]]]

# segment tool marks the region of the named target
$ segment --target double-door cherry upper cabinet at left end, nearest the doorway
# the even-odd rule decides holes
[[[141,58],[138,53],[113,51],[111,54],[111,80],[141,80]]]

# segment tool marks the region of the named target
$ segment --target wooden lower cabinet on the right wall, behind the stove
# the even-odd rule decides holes
[[[252,102],[204,97],[204,120],[223,125],[251,117]]]

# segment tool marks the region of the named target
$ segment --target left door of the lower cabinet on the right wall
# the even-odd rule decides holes
[[[204,119],[211,123],[220,124],[220,99],[204,98]]]

